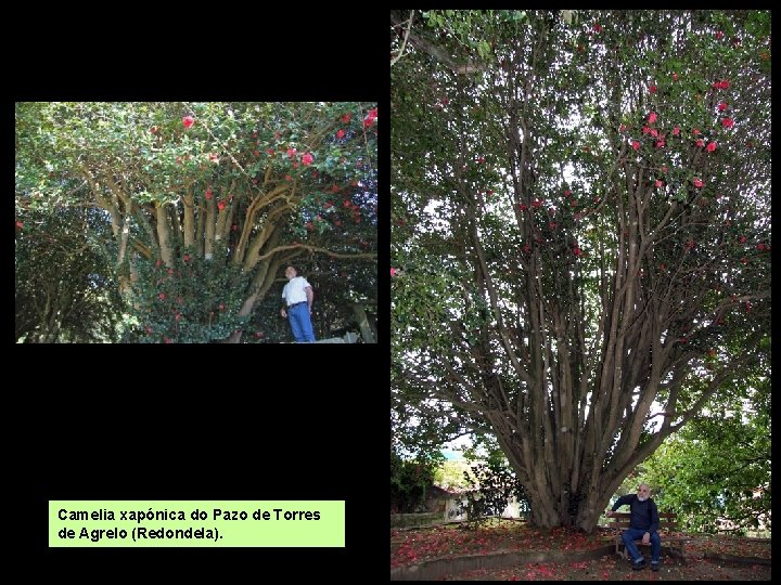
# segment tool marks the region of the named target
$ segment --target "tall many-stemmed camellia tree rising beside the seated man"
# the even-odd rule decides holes
[[[769,336],[769,12],[390,24],[393,420],[591,531]]]

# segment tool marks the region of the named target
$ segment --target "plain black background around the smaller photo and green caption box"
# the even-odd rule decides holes
[[[15,101],[379,102],[379,343],[36,347],[9,336],[3,524],[11,563],[29,575],[387,578],[387,12],[220,9],[20,14],[8,119]],[[49,548],[51,499],[344,499],[346,546]]]

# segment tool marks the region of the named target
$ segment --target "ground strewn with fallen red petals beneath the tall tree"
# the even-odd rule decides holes
[[[650,567],[633,571],[615,554],[579,560],[613,542],[612,533],[586,535],[567,529],[537,530],[521,522],[495,522],[478,529],[448,524],[428,529],[390,531],[390,567],[421,568],[450,559],[452,566],[468,557],[497,554],[540,554],[537,562],[517,562],[501,569],[453,571],[443,581],[769,581],[770,541],[724,535],[687,534],[686,560],[663,548],[658,572]],[[664,538],[663,538],[664,547]],[[562,562],[555,555],[572,551]],[[558,562],[549,562],[545,554]],[[646,557],[646,562],[650,559]],[[421,575],[422,577],[422,575]]]

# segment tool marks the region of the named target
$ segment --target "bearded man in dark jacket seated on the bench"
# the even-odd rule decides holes
[[[606,515],[613,516],[616,509],[625,504],[629,505],[631,517],[629,518],[629,528],[624,531],[622,538],[627,552],[632,558],[632,569],[645,568],[645,559],[635,545],[636,538],[642,538],[643,544],[651,544],[651,570],[658,571],[660,554],[662,552],[662,541],[658,535],[658,510],[656,503],[651,499],[651,490],[648,484],[641,483],[637,495],[620,496]]]

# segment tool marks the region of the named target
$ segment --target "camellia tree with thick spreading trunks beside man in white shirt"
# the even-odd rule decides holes
[[[375,265],[376,118],[370,103],[18,103],[17,199],[103,210],[127,340],[260,339],[253,309],[286,264]]]

